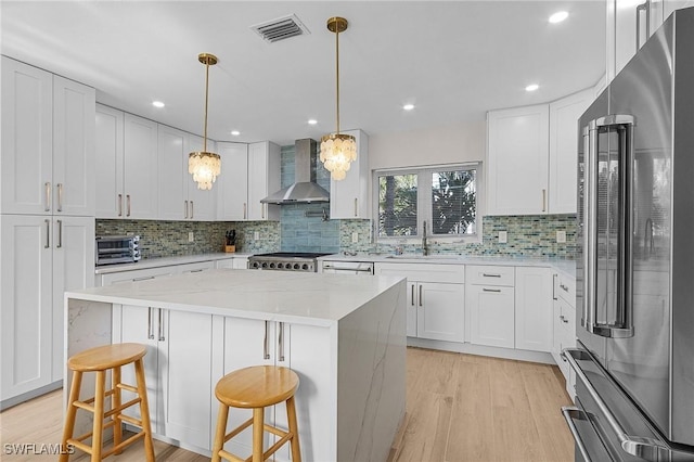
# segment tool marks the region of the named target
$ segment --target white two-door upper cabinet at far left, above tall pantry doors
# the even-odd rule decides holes
[[[94,94],[2,56],[3,214],[94,214]]]

